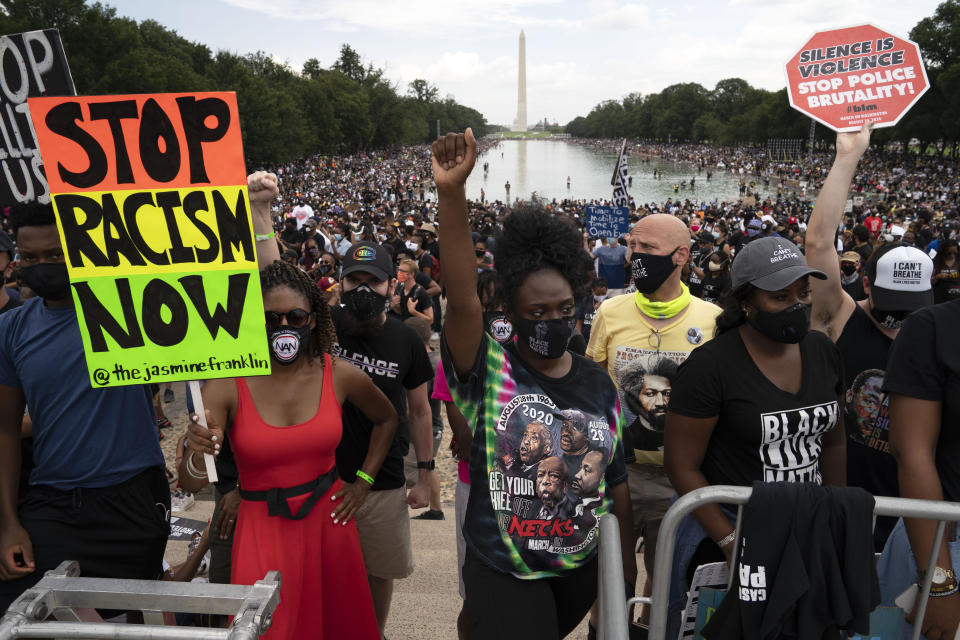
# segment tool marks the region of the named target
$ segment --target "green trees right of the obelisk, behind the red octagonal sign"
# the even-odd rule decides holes
[[[874,139],[917,138],[952,147],[960,141],[960,0],[940,4],[933,16],[911,30],[910,39],[923,52],[930,90],[897,126],[878,129]],[[810,119],[790,107],[785,88],[766,91],[730,78],[712,90],[691,82],[671,85],[660,93],[631,93],[620,101],[607,100],[587,116],[574,118],[566,131],[585,138],[730,145],[805,138]],[[819,139],[832,141],[833,136],[832,131],[817,125]]]

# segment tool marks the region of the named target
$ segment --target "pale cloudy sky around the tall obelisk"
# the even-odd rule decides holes
[[[257,50],[298,70],[350,44],[401,92],[416,78],[494,124],[517,111],[527,43],[527,120],[566,124],[603,100],[678,82],[743,78],[778,90],[815,32],[870,22],[907,37],[937,0],[106,0],[212,50]]]

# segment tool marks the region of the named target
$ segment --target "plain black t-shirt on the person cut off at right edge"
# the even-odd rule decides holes
[[[960,300],[924,307],[890,349],[883,390],[941,402],[936,465],[944,497],[960,500]]]

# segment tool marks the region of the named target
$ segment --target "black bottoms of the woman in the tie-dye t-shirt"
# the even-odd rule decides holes
[[[597,557],[562,578],[521,580],[495,571],[467,547],[464,613],[472,637],[558,640],[576,629],[597,599]]]

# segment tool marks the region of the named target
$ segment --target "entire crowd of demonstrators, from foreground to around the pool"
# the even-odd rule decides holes
[[[654,576],[678,495],[787,481],[960,499],[957,163],[869,139],[838,135],[813,169],[751,148],[632,144],[748,184],[726,202],[632,202],[619,238],[585,232],[584,206],[605,201],[468,200],[496,144],[469,132],[251,175],[276,366],[206,384],[208,426],[191,423],[178,464],[193,490],[206,482],[199,454],[217,459],[211,579],[283,570],[274,637],[383,637],[394,581],[413,571],[409,509],[445,517],[441,406],[460,461],[462,638],[576,627],[596,597],[604,513],[621,524],[628,592],[671,579],[675,629],[692,568],[731,560],[734,531],[722,507],[698,510],[672,575]],[[758,197],[749,182],[765,178],[808,181],[815,206],[788,190]],[[89,387],[52,208],[4,224],[0,608],[67,558],[84,575],[158,577],[160,389]],[[810,407],[820,418],[797,417]],[[761,428],[769,414],[779,430]],[[892,601],[925,565],[932,528],[880,518],[872,542]],[[931,637],[956,630],[957,544],[948,531]]]

